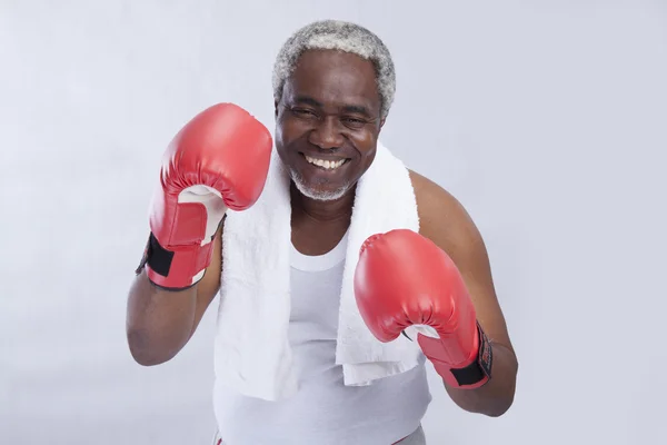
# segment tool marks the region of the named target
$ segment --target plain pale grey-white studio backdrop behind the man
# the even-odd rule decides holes
[[[519,356],[500,418],[429,367],[429,444],[667,443],[664,1],[0,4],[0,443],[210,443],[218,300],[167,364],[126,344],[150,195],[206,107],[275,128],[275,56],[325,18],[390,48],[381,139],[471,214]]]

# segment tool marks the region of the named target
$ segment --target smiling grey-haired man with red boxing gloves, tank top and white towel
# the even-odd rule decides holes
[[[379,142],[394,93],[377,36],[318,21],[277,57],[273,137],[220,103],[167,149],[128,342],[141,365],[169,360],[220,291],[217,443],[425,444],[426,360],[462,409],[510,407],[484,241]]]

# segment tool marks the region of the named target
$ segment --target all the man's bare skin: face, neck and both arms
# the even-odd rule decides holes
[[[276,147],[282,161],[310,189],[345,189],[336,200],[303,196],[292,185],[292,243],[306,255],[334,248],[350,224],[357,180],[371,165],[385,120],[371,62],[337,51],[307,51],[286,82],[276,105]],[[305,156],[346,164],[334,172],[312,168]],[[518,363],[498,304],[484,240],[464,207],[429,179],[410,171],[420,218],[419,233],[456,263],[494,347],[492,378],[477,389],[446,386],[462,409],[488,416],[512,404]],[[128,298],[130,350],[142,365],[172,358],[187,344],[220,287],[221,231],[215,237],[213,261],[196,286],[163,291],[137,276]]]

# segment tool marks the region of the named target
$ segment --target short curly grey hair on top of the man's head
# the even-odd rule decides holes
[[[320,20],[297,30],[282,46],[273,65],[273,99],[280,100],[282,88],[301,53],[306,50],[332,49],[357,55],[372,62],[380,95],[380,117],[389,113],[396,92],[396,72],[389,50],[368,29],[340,20]]]

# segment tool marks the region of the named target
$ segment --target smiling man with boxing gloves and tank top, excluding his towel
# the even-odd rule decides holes
[[[334,360],[345,263],[337,256],[394,99],[389,51],[357,24],[315,22],[285,43],[273,89],[275,148],[291,178],[290,342],[306,370],[297,395],[285,400],[217,390],[220,435],[229,445],[424,444],[424,362],[347,387]],[[196,117],[167,150],[128,301],[128,342],[139,364],[169,360],[195,333],[229,267],[221,264],[223,216],[255,205],[271,146],[261,123],[221,105]],[[355,275],[359,312],[381,342],[411,325],[430,326],[430,335],[412,340],[451,399],[500,416],[512,403],[518,364],[482,239],[451,195],[417,172],[409,179],[418,233],[391,230],[364,244]]]

